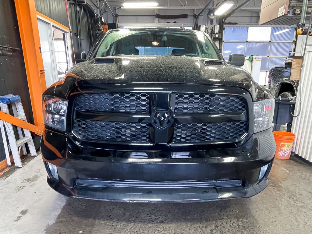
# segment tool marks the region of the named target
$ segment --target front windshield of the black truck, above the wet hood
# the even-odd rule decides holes
[[[114,55],[174,55],[220,59],[203,32],[164,29],[121,29],[110,32],[95,57]]]

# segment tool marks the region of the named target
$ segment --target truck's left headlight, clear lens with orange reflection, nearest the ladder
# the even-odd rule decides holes
[[[67,100],[42,96],[44,124],[61,131],[65,131]]]

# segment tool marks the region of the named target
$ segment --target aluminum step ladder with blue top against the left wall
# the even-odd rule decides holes
[[[0,96],[0,110],[10,115],[9,105],[11,105],[12,107],[14,117],[27,122],[20,96],[12,95],[12,94]],[[7,165],[11,165],[10,154],[9,154],[9,151],[11,149],[15,166],[22,167],[20,151],[22,149],[23,154],[24,155],[27,154],[25,144],[28,145],[29,152],[32,156],[37,156],[37,152],[36,152],[34,142],[32,141],[32,135],[30,131],[27,129],[18,127],[18,126],[16,127],[17,127],[18,136],[19,136],[19,139],[17,140],[14,135],[13,125],[7,122],[4,122],[3,120],[0,120],[0,129],[1,129],[3,143],[4,145],[7,145],[7,147],[4,147],[6,158],[7,158]],[[10,144],[7,144],[6,134],[7,134],[7,138]]]

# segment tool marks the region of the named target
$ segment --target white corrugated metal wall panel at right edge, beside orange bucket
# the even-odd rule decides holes
[[[291,132],[294,133],[295,142],[293,152],[300,157],[312,162],[312,52],[306,52],[304,66],[301,71],[299,89],[297,93],[295,115],[299,113],[300,99],[302,101],[301,112],[293,120]]]

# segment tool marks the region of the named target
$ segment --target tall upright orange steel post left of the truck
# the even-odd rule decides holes
[[[35,0],[14,0],[35,125],[43,124],[41,94],[46,90]],[[22,85],[22,84],[21,84]],[[29,105],[29,104],[28,104]]]

